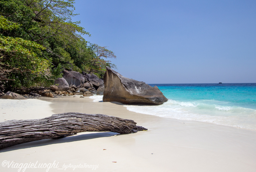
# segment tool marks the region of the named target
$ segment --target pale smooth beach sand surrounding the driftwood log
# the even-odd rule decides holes
[[[0,99],[0,122],[64,112],[132,119],[148,131],[126,135],[86,132],[4,148],[0,171],[256,171],[253,130],[144,115],[88,97]]]

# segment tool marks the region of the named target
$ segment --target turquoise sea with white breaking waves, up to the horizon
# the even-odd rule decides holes
[[[157,86],[168,101],[158,106],[124,105],[129,111],[256,130],[256,83],[149,85]]]

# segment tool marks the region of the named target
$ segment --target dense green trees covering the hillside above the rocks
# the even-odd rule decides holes
[[[10,89],[52,84],[64,69],[102,77],[116,58],[88,43],[74,0],[0,0],[0,81]]]

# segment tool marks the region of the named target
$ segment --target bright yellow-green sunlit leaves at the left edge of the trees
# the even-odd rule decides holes
[[[19,25],[0,16],[0,29],[12,30],[18,27]],[[49,62],[40,56],[43,49],[43,46],[35,42],[0,34],[0,80],[13,80],[15,82],[9,83],[14,83],[14,87],[20,87],[21,81],[18,78],[22,78],[21,76],[25,76],[26,79],[29,79],[28,76],[50,76]],[[24,82],[23,84],[30,85]]]

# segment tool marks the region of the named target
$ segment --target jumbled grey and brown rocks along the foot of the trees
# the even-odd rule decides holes
[[[55,80],[55,85],[48,88],[38,87],[34,91],[26,92],[22,94],[24,98],[36,98],[39,96],[56,97],[56,96],[93,96],[93,94],[103,95],[104,82],[94,74],[80,74],[75,71],[63,71],[64,76]],[[15,99],[15,93],[4,94],[4,89],[0,87],[0,98],[9,97]],[[99,90],[99,91],[98,91]],[[5,95],[5,96],[2,96]],[[20,95],[21,96],[21,95]],[[22,96],[22,97],[23,97]]]

